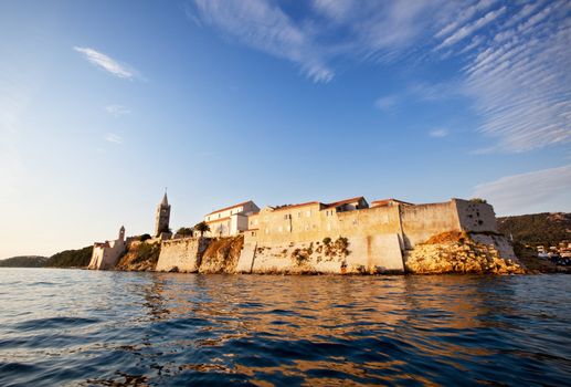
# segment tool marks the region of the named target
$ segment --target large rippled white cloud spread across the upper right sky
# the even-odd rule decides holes
[[[299,7],[304,12],[276,0],[194,0],[189,18],[295,63],[314,82],[331,81],[336,64],[348,60],[422,66],[455,59],[462,66],[452,88],[419,82],[401,94],[435,102],[467,96],[479,114],[478,132],[493,143],[476,153],[571,143],[569,1],[311,0]],[[395,107],[384,98],[374,106]]]

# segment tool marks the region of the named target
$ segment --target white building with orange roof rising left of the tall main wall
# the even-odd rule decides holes
[[[252,200],[212,211],[204,216],[204,222],[210,227],[207,236],[236,236],[247,230],[249,217],[257,211],[260,211],[260,208]]]

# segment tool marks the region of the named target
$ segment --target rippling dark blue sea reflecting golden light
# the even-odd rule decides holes
[[[571,276],[0,269],[0,386],[571,383]]]

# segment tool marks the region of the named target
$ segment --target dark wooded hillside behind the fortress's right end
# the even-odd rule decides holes
[[[498,218],[498,230],[522,244],[554,245],[571,241],[571,213],[543,212]]]

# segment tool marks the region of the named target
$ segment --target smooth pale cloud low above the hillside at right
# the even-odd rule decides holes
[[[571,165],[506,176],[474,188],[498,215],[570,211]]]

